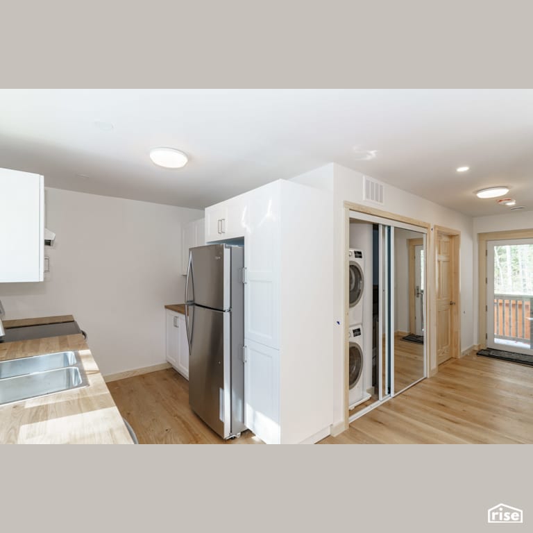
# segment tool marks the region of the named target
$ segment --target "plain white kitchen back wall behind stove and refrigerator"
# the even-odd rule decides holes
[[[103,375],[164,362],[164,305],[183,302],[181,226],[203,211],[46,189],[44,282],[2,283],[7,319],[73,314]]]

